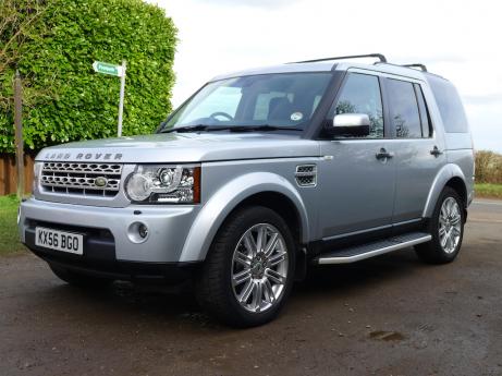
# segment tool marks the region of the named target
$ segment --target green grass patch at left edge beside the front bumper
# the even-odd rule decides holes
[[[0,196],[0,256],[25,250],[17,234],[17,207],[15,195]]]

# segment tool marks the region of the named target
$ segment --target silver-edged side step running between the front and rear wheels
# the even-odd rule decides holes
[[[348,264],[382,255],[415,244],[428,242],[432,236],[425,232],[411,232],[399,236],[350,246],[334,252],[323,253],[314,258],[314,264]]]

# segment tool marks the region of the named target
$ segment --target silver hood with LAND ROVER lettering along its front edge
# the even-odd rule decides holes
[[[51,146],[36,160],[151,163],[299,156],[319,156],[318,143],[272,133],[166,133]]]

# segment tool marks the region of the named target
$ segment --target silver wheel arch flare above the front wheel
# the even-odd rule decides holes
[[[249,205],[276,210],[292,228],[295,240],[308,242],[307,209],[295,186],[278,174],[253,172],[226,183],[205,204],[192,225],[180,262],[204,260],[229,216]]]

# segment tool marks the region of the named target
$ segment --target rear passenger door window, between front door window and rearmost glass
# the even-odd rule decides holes
[[[397,138],[421,138],[420,114],[413,84],[405,81],[388,81],[391,119]]]

